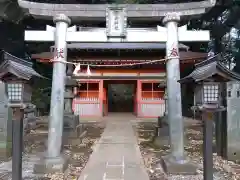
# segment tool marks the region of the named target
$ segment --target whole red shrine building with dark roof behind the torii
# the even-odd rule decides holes
[[[102,117],[127,112],[139,118],[163,116],[165,43],[72,43],[67,48],[68,61],[81,64],[81,71],[72,77],[79,83],[74,88],[75,114]],[[179,57],[182,73],[206,59],[207,53],[191,52],[179,44]],[[32,58],[50,63],[53,52],[33,54]]]

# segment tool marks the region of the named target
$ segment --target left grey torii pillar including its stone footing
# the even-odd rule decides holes
[[[64,113],[64,89],[67,61],[67,29],[71,23],[64,14],[53,18],[55,30],[55,54],[53,62],[51,107],[48,130],[47,153],[35,164],[35,173],[64,172],[67,168],[66,159],[61,155]]]

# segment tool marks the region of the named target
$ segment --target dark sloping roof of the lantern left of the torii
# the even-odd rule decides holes
[[[1,52],[0,78],[9,74],[24,80],[30,80],[33,76],[44,78],[32,68],[32,63],[18,58],[8,52]]]

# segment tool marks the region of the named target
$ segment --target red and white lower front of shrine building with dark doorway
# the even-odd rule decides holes
[[[75,90],[73,109],[81,119],[108,119],[125,116],[157,118],[165,112],[165,87],[159,80],[81,81]],[[129,118],[128,118],[129,119]]]

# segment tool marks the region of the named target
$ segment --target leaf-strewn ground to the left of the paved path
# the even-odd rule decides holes
[[[65,138],[63,153],[69,157],[68,169],[65,173],[54,173],[36,176],[32,173],[33,165],[38,160],[38,154],[46,149],[47,127],[39,127],[30,131],[24,137],[23,180],[75,180],[86,165],[92,153],[92,146],[100,138],[104,124],[88,123],[84,126],[85,135],[79,143],[79,138]],[[11,180],[11,160],[0,163],[0,180]]]

